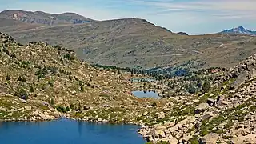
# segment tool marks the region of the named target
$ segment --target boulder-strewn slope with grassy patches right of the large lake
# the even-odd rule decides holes
[[[254,54],[214,72],[209,91],[170,97],[162,122],[143,126],[139,133],[150,142],[170,144],[256,143],[255,70]]]

